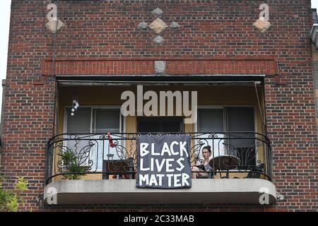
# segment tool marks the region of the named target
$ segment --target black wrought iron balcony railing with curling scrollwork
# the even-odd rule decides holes
[[[47,143],[46,183],[52,182],[52,179],[81,179],[88,174],[102,174],[103,179],[110,175],[134,179],[137,168],[136,137],[140,134],[63,133],[52,137]],[[184,134],[192,139],[192,166],[204,165],[202,149],[208,145],[211,147],[211,178],[257,177],[271,180],[271,145],[269,138],[263,134]]]

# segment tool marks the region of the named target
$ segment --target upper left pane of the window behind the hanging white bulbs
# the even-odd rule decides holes
[[[78,108],[75,115],[71,116],[71,108],[66,108],[67,126],[66,133],[90,133],[90,108]]]

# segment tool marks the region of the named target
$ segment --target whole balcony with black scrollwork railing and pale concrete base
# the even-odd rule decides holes
[[[70,134],[47,145],[45,202],[54,195],[63,204],[260,203],[276,202],[271,182],[271,145],[250,132],[187,133],[192,166],[203,165],[202,149],[210,145],[208,178],[192,179],[189,189],[136,187],[136,138],[140,133]],[[76,162],[69,167],[68,160]]]

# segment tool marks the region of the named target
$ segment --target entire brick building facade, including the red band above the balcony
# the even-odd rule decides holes
[[[57,4],[59,20],[64,23],[56,34],[46,28],[47,5],[51,2]],[[271,28],[265,32],[253,26],[259,19],[262,3],[12,0],[1,167],[8,177],[8,188],[17,176],[28,181],[29,189],[23,194],[27,203],[21,210],[317,211],[318,142],[309,35],[310,0],[266,1]],[[154,11],[155,8],[162,12]],[[164,24],[153,24],[157,18]],[[158,61],[165,63],[164,74],[155,67]],[[102,85],[95,88],[96,83],[145,80],[165,83],[162,79],[167,76],[174,81],[180,76],[194,78],[196,82],[206,79],[202,81],[211,84],[229,82],[228,86],[196,87],[214,92],[207,99],[221,101],[224,96],[224,103],[207,100],[207,105],[224,106],[238,105],[232,101],[240,98],[246,99],[240,105],[249,105],[248,97],[256,96],[254,85],[235,91],[230,83],[237,86],[240,81],[261,79],[261,103],[253,99],[251,105],[259,120],[257,131],[271,141],[271,179],[283,198],[267,206],[137,205],[128,201],[117,205],[43,203],[47,142],[65,131],[61,109],[67,109],[68,103],[64,102],[71,103],[76,93],[80,104],[117,105],[112,99],[120,100],[120,95],[107,90],[125,90],[125,86],[103,90]],[[88,99],[94,101],[86,100],[85,95],[91,95]],[[100,104],[99,97],[111,101]],[[200,98],[203,102],[206,93]],[[126,128],[130,128],[128,122]]]

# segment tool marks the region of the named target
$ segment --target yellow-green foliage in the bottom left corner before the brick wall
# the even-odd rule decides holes
[[[28,190],[28,182],[23,177],[17,177],[18,182],[14,186],[14,190],[4,190],[4,177],[0,176],[0,211],[17,212],[18,203],[25,203],[20,194]]]

